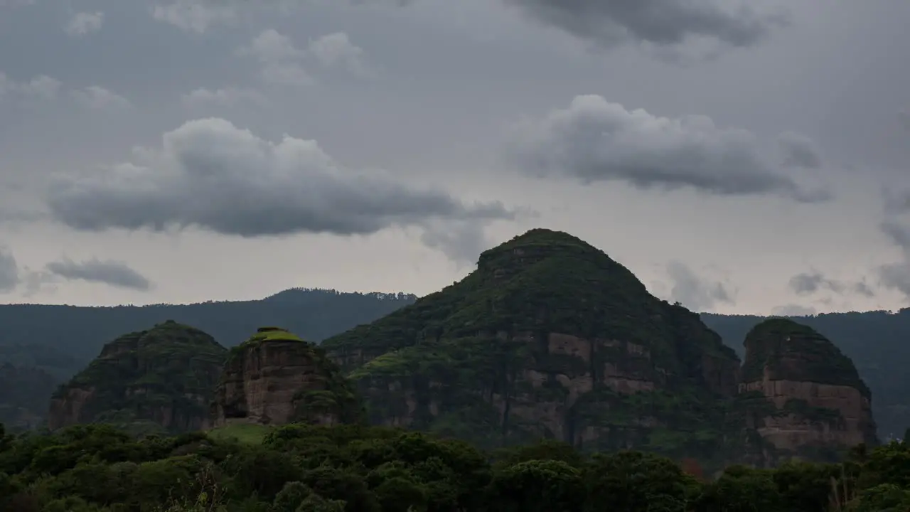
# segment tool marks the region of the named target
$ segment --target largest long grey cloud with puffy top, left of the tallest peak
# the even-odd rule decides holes
[[[468,205],[381,170],[346,169],[314,140],[273,143],[220,118],[189,121],[162,143],[138,151],[138,163],[56,180],[47,194],[52,215],[77,230],[197,226],[243,237],[513,217],[500,203]]]

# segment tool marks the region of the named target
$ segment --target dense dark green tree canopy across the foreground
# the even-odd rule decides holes
[[[706,480],[639,452],[543,441],[492,454],[398,429],[287,425],[261,442],[132,439],[108,425],[0,430],[10,512],[906,512],[910,446]]]

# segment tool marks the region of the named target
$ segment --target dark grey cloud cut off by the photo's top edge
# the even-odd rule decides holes
[[[600,46],[648,43],[679,46],[708,38],[728,46],[752,46],[775,26],[782,13],[762,13],[739,0],[505,0],[534,18]]]

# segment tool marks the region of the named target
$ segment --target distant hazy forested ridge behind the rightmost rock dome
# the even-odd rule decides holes
[[[702,313],[702,321],[743,357],[745,334],[763,316]],[[792,316],[824,334],[853,359],[872,389],[878,435],[899,436],[910,426],[910,308],[900,312],[833,312]]]

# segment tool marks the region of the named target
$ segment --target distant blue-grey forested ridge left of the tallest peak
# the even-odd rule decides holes
[[[0,305],[0,345],[45,345],[81,365],[117,336],[167,320],[197,327],[228,347],[244,341],[262,325],[278,325],[319,342],[416,300],[416,295],[408,293],[295,288],[258,301],[115,307]]]

